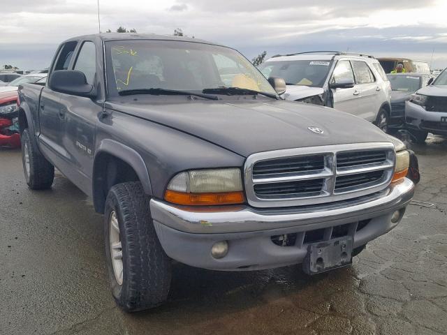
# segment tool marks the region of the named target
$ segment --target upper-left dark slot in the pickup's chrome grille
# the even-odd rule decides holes
[[[261,161],[253,167],[253,177],[323,170],[324,156],[312,155]]]

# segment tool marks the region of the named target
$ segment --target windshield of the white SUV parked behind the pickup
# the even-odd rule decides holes
[[[288,85],[323,87],[330,64],[321,60],[267,61],[259,69],[265,77],[283,78]]]

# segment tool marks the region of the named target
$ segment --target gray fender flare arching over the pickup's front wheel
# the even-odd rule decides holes
[[[99,144],[98,149],[96,149],[95,157],[94,157],[94,164],[93,164],[93,170],[96,170],[96,163],[97,158],[100,154],[107,153],[111,156],[115,156],[122,161],[129,164],[133,170],[135,170],[135,173],[138,176],[138,179],[140,179],[141,185],[143,190],[147,195],[152,195],[152,185],[149,178],[149,172],[147,170],[147,166],[145,161],[143,161],[140,154],[138,154],[137,151],[132,149],[131,147],[127,147],[126,145],[117,142],[115,140],[105,139],[101,141],[101,144]],[[94,188],[95,185],[93,184]],[[95,190],[93,190],[95,193]]]

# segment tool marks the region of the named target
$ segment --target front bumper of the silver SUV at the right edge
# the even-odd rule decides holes
[[[409,129],[447,135],[447,121],[441,119],[447,120],[447,112],[428,112],[416,103],[405,103],[405,124]]]

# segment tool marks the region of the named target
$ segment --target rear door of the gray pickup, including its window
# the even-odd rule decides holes
[[[71,41],[59,47],[49,76],[53,71],[66,70],[68,68],[76,45],[76,41]],[[41,129],[39,140],[43,144],[45,153],[59,166],[60,163],[64,162],[63,157],[66,156],[64,147],[61,145],[61,110],[63,106],[61,105],[61,94],[52,91],[48,87],[48,82],[49,80],[47,80],[46,86],[42,89],[38,107]]]

